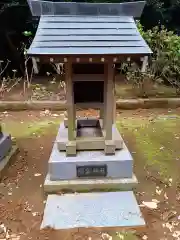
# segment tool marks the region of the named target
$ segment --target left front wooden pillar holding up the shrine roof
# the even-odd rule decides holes
[[[66,101],[67,101],[67,115],[68,115],[68,140],[73,141],[75,114],[74,114],[74,94],[72,84],[72,63],[68,61],[65,63],[65,81],[66,81]]]

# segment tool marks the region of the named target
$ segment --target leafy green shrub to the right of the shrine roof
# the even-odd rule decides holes
[[[145,84],[147,79],[152,83],[168,83],[180,93],[180,36],[168,31],[164,26],[144,31],[137,22],[142,37],[153,51],[146,73],[141,73],[135,64],[127,71],[127,79],[141,89],[142,96],[147,96]]]

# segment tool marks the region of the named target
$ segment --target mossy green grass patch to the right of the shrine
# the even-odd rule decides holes
[[[155,168],[162,178],[174,176],[179,178],[177,161],[180,156],[178,129],[180,120],[159,119],[125,119],[117,122],[124,135],[132,136],[135,148],[142,156],[142,165]],[[138,155],[138,156],[139,156]]]

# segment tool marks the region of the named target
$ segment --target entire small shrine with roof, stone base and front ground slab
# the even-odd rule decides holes
[[[141,59],[145,71],[151,50],[134,20],[145,2],[28,2],[32,14],[40,16],[28,54],[65,66],[67,119],[60,123],[44,190],[90,192],[49,195],[41,228],[144,227],[131,191],[137,184],[133,158],[114,123],[114,67]],[[99,109],[100,116],[79,118],[78,108]]]

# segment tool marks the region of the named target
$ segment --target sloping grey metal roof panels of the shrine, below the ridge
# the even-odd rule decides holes
[[[29,55],[151,54],[133,17],[41,16]]]

